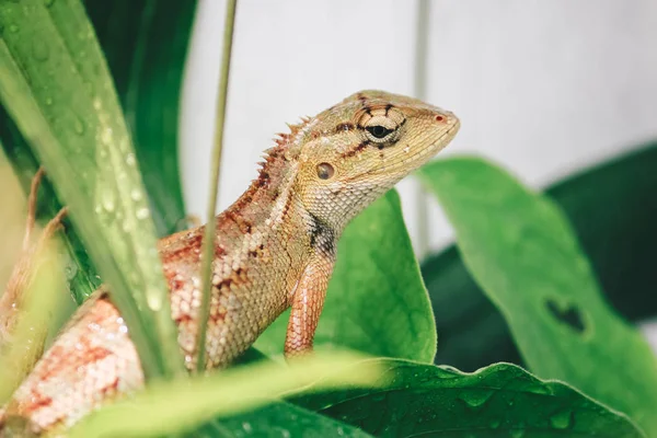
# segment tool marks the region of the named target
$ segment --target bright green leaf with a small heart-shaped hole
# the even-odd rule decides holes
[[[465,265],[500,309],[537,374],[567,381],[657,433],[657,361],[607,306],[561,210],[481,159],[435,162],[439,198]]]

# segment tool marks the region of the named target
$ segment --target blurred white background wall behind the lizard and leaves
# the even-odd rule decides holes
[[[199,2],[182,104],[184,195],[200,217],[224,7]],[[361,89],[453,111],[462,128],[443,154],[483,154],[542,187],[657,137],[655,42],[653,0],[241,0],[219,208],[286,122]],[[437,205],[420,239],[425,197],[413,181],[399,189],[417,250],[448,244]]]

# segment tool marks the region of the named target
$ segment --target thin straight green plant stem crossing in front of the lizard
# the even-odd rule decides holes
[[[210,191],[208,198],[208,218],[203,239],[203,264],[200,270],[201,300],[198,319],[198,337],[196,339],[196,370],[205,370],[206,332],[210,314],[211,268],[215,253],[215,231],[217,220],[217,197],[219,194],[219,168],[221,165],[221,149],[223,146],[223,127],[226,124],[226,103],[228,101],[228,76],[230,72],[230,54],[232,51],[233,27],[238,0],[228,0],[226,4],[226,24],[223,26],[223,53],[221,72],[219,74],[219,92],[217,94],[217,120],[215,125],[215,146],[212,148],[212,169],[210,171]]]

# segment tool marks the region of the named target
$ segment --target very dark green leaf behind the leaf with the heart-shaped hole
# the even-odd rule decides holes
[[[606,298],[625,318],[657,315],[657,145],[612,159],[549,187],[568,217]],[[613,208],[610,208],[613,206]],[[437,364],[475,370],[521,359],[502,314],[457,247],[422,264],[440,333]]]

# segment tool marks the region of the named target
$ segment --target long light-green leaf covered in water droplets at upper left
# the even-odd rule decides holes
[[[0,26],[2,104],[110,284],[147,376],[184,372],[135,153],[84,9],[2,0]]]

